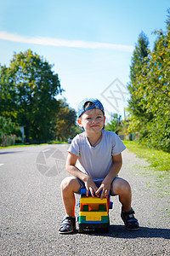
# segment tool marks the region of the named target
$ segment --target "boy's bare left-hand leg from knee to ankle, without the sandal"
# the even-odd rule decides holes
[[[65,207],[65,216],[75,217],[75,195],[81,185],[76,177],[65,177],[61,182],[61,195]]]

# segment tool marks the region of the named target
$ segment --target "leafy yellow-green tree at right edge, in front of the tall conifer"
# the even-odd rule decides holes
[[[143,67],[147,75],[139,79],[142,96],[141,104],[146,109],[148,119],[141,132],[148,145],[170,151],[170,22],[167,32],[157,31],[154,50],[149,62]]]

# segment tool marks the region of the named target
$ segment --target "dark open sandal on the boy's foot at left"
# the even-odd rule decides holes
[[[69,234],[76,230],[76,218],[67,216],[62,220],[59,226],[60,234]]]

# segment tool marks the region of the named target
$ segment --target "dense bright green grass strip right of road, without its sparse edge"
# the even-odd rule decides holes
[[[139,158],[144,158],[150,163],[150,167],[156,171],[170,172],[170,154],[161,150],[146,148],[137,142],[123,142],[129,151],[136,154]]]

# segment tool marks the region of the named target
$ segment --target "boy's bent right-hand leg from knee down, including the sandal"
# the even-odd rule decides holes
[[[119,201],[122,203],[121,217],[127,230],[139,230],[139,223],[134,218],[134,211],[131,207],[132,192],[129,183],[122,178],[116,178],[112,183],[112,192],[119,195]]]

